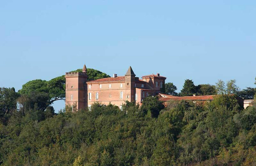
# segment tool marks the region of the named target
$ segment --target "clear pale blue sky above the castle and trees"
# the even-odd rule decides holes
[[[255,87],[256,1],[1,0],[0,62],[0,87],[16,90],[84,63],[160,73],[178,92],[187,78]]]

